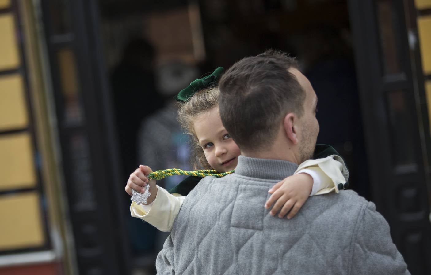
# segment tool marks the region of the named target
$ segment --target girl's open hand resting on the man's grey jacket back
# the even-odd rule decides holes
[[[265,209],[269,209],[275,202],[269,214],[274,216],[281,208],[278,217],[282,218],[290,211],[287,218],[291,219],[310,196],[312,187],[313,178],[309,174],[299,173],[286,177],[269,189],[268,193],[272,196],[265,203]]]

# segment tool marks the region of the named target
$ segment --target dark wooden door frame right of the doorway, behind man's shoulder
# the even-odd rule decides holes
[[[399,72],[392,74],[384,73],[385,49],[381,47],[384,38],[378,13],[382,2],[391,6],[390,21],[400,65]],[[412,34],[406,20],[409,15],[406,3],[403,0],[348,1],[372,200],[390,224],[394,243],[410,272],[419,275],[431,273],[430,135],[423,82],[422,88],[418,86],[423,76],[417,70],[418,64],[414,64],[418,49],[409,44]],[[409,122],[397,131],[391,126],[393,93],[400,97],[398,102],[404,112],[401,118]],[[402,131],[412,142],[400,142]],[[400,147],[407,148],[407,153],[413,156],[411,163],[395,163]]]

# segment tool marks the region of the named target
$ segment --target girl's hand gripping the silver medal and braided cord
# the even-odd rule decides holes
[[[148,204],[153,202],[153,200],[156,198],[157,195],[157,186],[156,186],[156,180],[148,180],[147,175],[152,173],[153,170],[151,170],[150,167],[139,165],[139,168],[137,168],[133,173],[130,174],[130,177],[127,181],[125,191],[132,196],[132,189],[136,190],[139,193],[145,192],[145,186],[147,184],[150,185],[150,193],[151,195],[147,198]]]

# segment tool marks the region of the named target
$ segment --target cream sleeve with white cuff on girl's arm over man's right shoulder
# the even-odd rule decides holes
[[[337,155],[331,155],[323,159],[309,159],[298,166],[295,174],[313,171],[320,180],[317,192],[314,195],[327,194],[332,191],[338,193],[338,184],[343,184],[349,179],[349,171],[344,160]],[[310,173],[308,173],[310,174]],[[315,180],[315,177],[313,180]],[[313,184],[313,189],[315,185]]]

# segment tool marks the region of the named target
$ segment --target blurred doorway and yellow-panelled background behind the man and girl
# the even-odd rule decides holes
[[[173,96],[268,48],[431,274],[431,0],[0,0],[0,275],[155,274],[167,233],[130,217],[128,176],[190,169]]]

